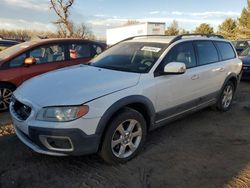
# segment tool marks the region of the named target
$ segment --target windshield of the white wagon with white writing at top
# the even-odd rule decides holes
[[[167,44],[123,42],[106,50],[90,65],[125,72],[147,73],[166,49]]]

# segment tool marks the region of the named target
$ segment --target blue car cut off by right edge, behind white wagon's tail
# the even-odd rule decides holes
[[[242,79],[250,80],[250,47],[246,48],[241,54],[240,59],[243,63]]]

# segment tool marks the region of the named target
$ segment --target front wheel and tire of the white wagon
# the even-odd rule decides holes
[[[104,161],[125,163],[142,149],[147,128],[144,117],[138,111],[124,108],[107,126],[100,152]]]

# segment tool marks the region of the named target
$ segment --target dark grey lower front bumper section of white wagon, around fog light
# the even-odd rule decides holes
[[[29,127],[27,135],[14,125],[18,138],[33,151],[53,156],[87,155],[98,151],[100,136],[86,135],[80,129]],[[46,140],[47,139],[47,140]],[[48,141],[50,140],[50,141]],[[67,147],[54,147],[50,142],[65,141]]]

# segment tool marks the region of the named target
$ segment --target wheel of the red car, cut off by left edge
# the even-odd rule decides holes
[[[0,112],[9,109],[11,96],[14,90],[15,87],[10,84],[0,83]]]

